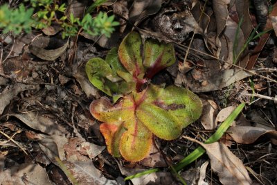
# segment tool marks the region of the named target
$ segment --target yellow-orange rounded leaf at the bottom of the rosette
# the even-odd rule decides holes
[[[127,131],[120,139],[120,154],[127,161],[141,161],[150,152],[152,133],[135,116],[125,121]]]

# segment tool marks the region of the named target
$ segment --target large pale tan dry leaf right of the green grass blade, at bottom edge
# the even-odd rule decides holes
[[[224,185],[247,185],[251,179],[247,169],[233,153],[222,143],[202,144],[211,159],[211,167]]]

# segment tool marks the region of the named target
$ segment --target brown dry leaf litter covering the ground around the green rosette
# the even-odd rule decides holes
[[[87,1],[70,4],[68,12],[82,17]],[[270,6],[276,8],[276,4]],[[6,134],[0,134],[1,184],[180,184],[180,178],[187,184],[276,184],[276,103],[243,95],[276,96],[276,45],[270,42],[276,37],[276,12],[267,19],[267,28],[273,29],[269,41],[264,39],[260,44],[257,37],[251,41],[254,45],[242,51],[251,30],[258,25],[256,10],[247,1],[107,1],[98,8],[113,10],[120,26],[111,38],[88,37],[81,32],[77,50],[73,49],[75,41],[60,39],[55,25],[18,37],[0,35],[0,127]],[[186,10],[191,12],[190,19],[182,21]],[[148,38],[175,40],[176,63],[171,67],[175,70],[164,69],[157,76],[166,78],[166,87],[186,87],[202,98],[202,117],[184,128],[182,136],[204,143],[234,107],[242,102],[249,104],[220,142],[202,144],[207,155],[182,169],[179,176],[164,167],[184,159],[197,148],[196,143],[182,136],[173,141],[156,137],[152,143],[157,148],[152,146],[143,161],[115,159],[105,149],[99,122],[89,113],[91,101],[105,94],[91,85],[84,63],[94,57],[104,61],[107,49],[118,47],[132,24],[143,43]],[[190,25],[188,33],[185,24]],[[194,28],[197,30],[191,37]],[[257,42],[258,49],[254,49]],[[69,62],[73,51],[75,58]],[[253,71],[233,66],[233,58],[240,52],[238,66]],[[253,62],[247,64],[249,58]],[[211,165],[205,163],[207,159]],[[157,167],[163,171],[123,181],[124,177]]]

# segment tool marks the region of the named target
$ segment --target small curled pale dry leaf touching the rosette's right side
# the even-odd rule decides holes
[[[215,116],[218,112],[217,104],[213,100],[202,99],[203,110],[200,121],[206,130],[213,130],[217,127]]]

